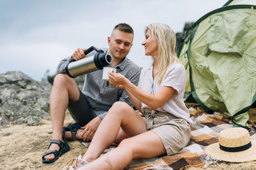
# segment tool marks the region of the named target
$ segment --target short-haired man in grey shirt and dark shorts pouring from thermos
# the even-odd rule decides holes
[[[111,55],[110,66],[116,67],[116,73],[123,74],[132,83],[138,85],[140,68],[126,57],[132,47],[133,36],[134,33],[130,25],[118,24],[113,29],[111,36],[108,37],[109,48],[100,50]],[[84,50],[78,48],[71,57],[61,60],[57,72],[61,73],[70,60],[86,57]],[[88,53],[87,56],[90,55],[93,55],[93,52]],[[42,157],[42,161],[52,163],[67,152],[69,146],[66,138],[91,140],[102,118],[116,101],[124,101],[131,105],[124,89],[106,87],[106,81],[102,80],[102,70],[85,74],[82,91],[67,74],[57,74],[50,96],[52,140],[48,151]],[[68,129],[63,128],[67,108],[77,122],[71,125],[70,132],[65,132]]]

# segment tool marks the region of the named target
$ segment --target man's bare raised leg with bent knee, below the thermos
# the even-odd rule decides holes
[[[79,99],[79,89],[76,82],[67,74],[57,74],[54,78],[50,96],[50,110],[52,120],[52,139],[62,139],[63,122],[65,111],[68,107],[68,100],[77,101]],[[56,144],[52,144],[49,150],[60,150]],[[54,159],[54,155],[47,155],[46,160]]]

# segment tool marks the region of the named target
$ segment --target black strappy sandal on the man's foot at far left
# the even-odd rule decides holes
[[[68,152],[69,146],[68,146],[68,143],[67,143],[67,139],[65,139],[65,138],[63,138],[63,139],[64,139],[64,142],[61,141],[61,140],[51,139],[50,145],[48,146],[48,149],[50,148],[52,143],[54,143],[54,144],[57,144],[57,145],[60,146],[60,150],[59,151],[58,150],[49,150],[48,152],[45,152],[43,157],[42,157],[42,162],[43,163],[49,164],[49,163],[55,162],[59,157],[61,157],[61,155]],[[54,154],[55,158],[51,159],[51,160],[44,159],[44,157],[46,155],[50,155],[50,154]]]

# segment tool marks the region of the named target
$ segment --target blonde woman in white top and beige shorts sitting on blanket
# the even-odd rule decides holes
[[[109,72],[109,80],[125,89],[144,118],[126,103],[113,104],[83,156],[90,163],[79,169],[124,169],[132,159],[173,155],[187,145],[186,71],[175,56],[175,34],[166,24],[150,24],[142,45],[154,62],[142,69],[138,87],[119,73]],[[99,157],[124,136],[117,148]]]

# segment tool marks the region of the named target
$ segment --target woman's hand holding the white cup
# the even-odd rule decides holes
[[[112,85],[118,85],[118,89],[124,88],[125,84],[129,82],[129,80],[120,73],[113,73],[109,71],[108,77],[109,77],[109,83],[111,83]]]

